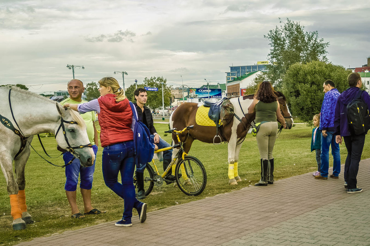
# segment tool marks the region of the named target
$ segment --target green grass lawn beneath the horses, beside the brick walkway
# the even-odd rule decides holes
[[[167,124],[155,124],[157,131],[167,142],[171,136],[163,136],[168,129]],[[276,140],[274,148],[275,180],[285,179],[303,173],[317,170],[314,152],[310,152],[312,128],[297,125],[291,130],[282,131]],[[366,137],[369,140],[369,136]],[[34,147],[42,152],[40,143],[33,141]],[[42,141],[52,156],[57,156],[54,138],[42,138]],[[370,157],[370,146],[365,145],[362,159]],[[346,148],[340,146],[342,163],[346,157]],[[106,214],[88,215],[84,219],[72,219],[64,191],[64,169],[54,167],[44,162],[31,150],[31,156],[26,165],[26,200],[28,212],[36,221],[27,225],[23,231],[13,231],[11,228],[9,196],[6,190],[4,177],[0,176],[0,245],[14,245],[21,241],[31,240],[40,236],[61,233],[102,222],[118,221],[123,212],[123,200],[105,186],[101,170],[102,148],[99,147],[96,161],[94,183],[92,186],[92,204],[94,207],[107,211]],[[259,180],[260,163],[256,139],[248,134],[243,142],[239,156],[239,176],[242,182],[238,186],[228,185],[227,144],[212,145],[199,141],[193,143],[189,155],[197,157],[204,164],[207,171],[207,186],[203,193],[197,197],[183,194],[177,187],[164,186],[156,188],[146,199],[148,210],[154,211],[169,206],[184,204],[216,194],[238,190],[254,184]],[[55,164],[63,164],[63,159],[53,159]],[[330,158],[330,163],[333,160]],[[161,169],[161,164],[158,165]],[[361,166],[360,166],[361,168]],[[330,173],[330,170],[329,170]],[[307,174],[311,175],[311,174]],[[343,175],[343,174],[341,174]],[[83,212],[81,194],[77,193],[77,204]],[[135,210],[135,209],[134,209]],[[134,211],[136,215],[136,211]]]

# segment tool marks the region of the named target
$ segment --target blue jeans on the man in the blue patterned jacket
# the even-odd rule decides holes
[[[332,146],[333,155],[333,174],[339,176],[340,173],[340,153],[339,144],[335,142],[335,136],[333,131],[326,132],[327,136],[321,138],[321,170],[320,175],[327,177],[329,172],[329,146]]]

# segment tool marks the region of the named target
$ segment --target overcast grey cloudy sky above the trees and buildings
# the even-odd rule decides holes
[[[113,76],[125,87],[145,77],[169,84],[225,83],[229,66],[266,60],[263,35],[279,17],[330,42],[329,61],[360,67],[370,55],[370,1],[0,0],[1,84],[64,90]],[[35,86],[40,84],[40,86]],[[42,86],[41,86],[42,85]]]

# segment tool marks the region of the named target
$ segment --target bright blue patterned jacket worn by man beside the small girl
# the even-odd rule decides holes
[[[334,131],[334,113],[339,95],[340,93],[336,88],[325,93],[321,106],[320,130]]]

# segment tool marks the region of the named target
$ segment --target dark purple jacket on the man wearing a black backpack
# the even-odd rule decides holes
[[[338,97],[337,105],[335,107],[334,114],[334,134],[341,136],[350,136],[351,133],[348,127],[347,119],[347,105],[356,97],[357,92],[359,92],[359,87],[349,87],[347,90],[343,91]],[[369,93],[364,91],[361,94],[361,100],[366,103],[367,108],[370,109],[370,96]]]

